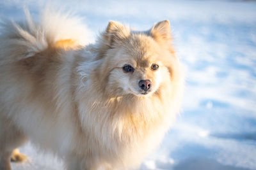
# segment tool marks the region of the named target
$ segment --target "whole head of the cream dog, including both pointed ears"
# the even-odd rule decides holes
[[[109,23],[105,38],[110,48],[104,69],[108,74],[109,91],[150,96],[163,83],[170,83],[166,59],[173,53],[166,48],[169,39],[164,39],[170,36],[170,25],[166,21],[157,25],[151,31],[131,32],[118,22]]]

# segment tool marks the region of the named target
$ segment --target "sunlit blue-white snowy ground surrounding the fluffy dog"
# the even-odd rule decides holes
[[[95,34],[108,20],[136,29],[168,19],[177,54],[186,67],[182,112],[161,146],[140,169],[256,169],[255,1],[59,1]],[[44,1],[0,1],[0,16],[19,20]],[[36,152],[13,169],[63,169],[60,160]]]

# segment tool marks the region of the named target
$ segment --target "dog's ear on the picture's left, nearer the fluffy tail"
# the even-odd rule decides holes
[[[109,46],[113,46],[117,41],[122,41],[130,35],[131,31],[120,22],[109,21],[106,29],[105,40]]]

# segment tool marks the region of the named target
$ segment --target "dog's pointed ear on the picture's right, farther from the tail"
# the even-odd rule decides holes
[[[154,25],[150,31],[150,34],[156,41],[170,41],[172,39],[170,29],[170,22],[168,20],[163,20]]]

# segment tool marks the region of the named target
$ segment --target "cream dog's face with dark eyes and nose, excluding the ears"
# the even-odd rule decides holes
[[[109,76],[125,94],[150,95],[163,81],[164,69],[159,48],[152,38],[132,35],[119,48],[111,50],[113,69]]]

